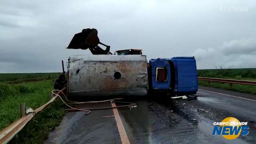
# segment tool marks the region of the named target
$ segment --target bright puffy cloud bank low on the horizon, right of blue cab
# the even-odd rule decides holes
[[[255,38],[230,40],[216,48],[198,48],[193,53],[198,68],[212,68],[224,65],[234,68],[256,68]]]

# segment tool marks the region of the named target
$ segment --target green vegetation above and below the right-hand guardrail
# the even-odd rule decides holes
[[[228,78],[228,79],[236,79],[236,80],[256,81],[256,68],[232,69],[232,68],[223,68],[223,66],[220,66],[219,68],[212,69],[212,70],[197,70],[197,72],[199,77]],[[256,94],[256,86],[233,84],[231,87],[230,84],[224,84],[220,82],[208,83],[207,81],[203,81],[203,80],[199,80],[198,85]]]

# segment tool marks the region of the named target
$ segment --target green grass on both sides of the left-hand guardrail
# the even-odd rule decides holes
[[[59,74],[0,74],[0,130],[19,118],[21,102],[33,110],[48,102]],[[28,122],[22,135],[18,135],[18,142],[43,143],[48,133],[61,122],[63,115],[62,102],[52,103]]]

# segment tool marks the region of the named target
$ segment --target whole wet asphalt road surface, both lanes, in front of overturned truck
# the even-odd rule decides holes
[[[256,96],[228,90],[200,87],[197,100],[132,98],[136,108],[118,112],[131,144],[255,144]],[[124,101],[124,100],[122,100]],[[80,105],[79,108],[111,106],[110,102]],[[50,133],[46,143],[120,144],[120,131],[113,110],[68,112],[62,123]],[[226,140],[213,136],[213,122],[226,117],[249,122],[247,136]]]

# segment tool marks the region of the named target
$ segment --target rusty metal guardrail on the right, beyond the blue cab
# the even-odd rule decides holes
[[[223,83],[229,83],[230,86],[232,84],[244,84],[244,85],[251,85],[256,86],[256,81],[252,80],[234,80],[234,79],[226,79],[226,78],[206,78],[206,77],[197,77],[198,80],[205,80],[210,82],[223,82]]]

